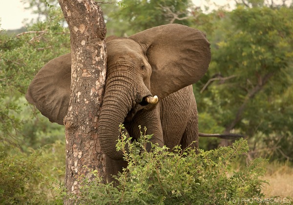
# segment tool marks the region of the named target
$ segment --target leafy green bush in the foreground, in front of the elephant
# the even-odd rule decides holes
[[[145,129],[146,131],[146,129]],[[182,150],[146,144],[151,136],[141,132],[136,142],[124,133],[117,149],[124,152],[128,166],[116,176],[119,182],[101,184],[100,179],[84,181],[83,204],[233,204],[242,198],[262,198],[259,177],[265,173],[265,160],[257,158],[241,171],[231,164],[248,152],[245,140],[216,150]],[[95,172],[93,172],[95,173]]]

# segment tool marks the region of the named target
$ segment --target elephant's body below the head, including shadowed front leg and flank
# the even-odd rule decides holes
[[[182,148],[186,148],[198,147],[197,122],[195,97],[192,85],[189,85],[168,95],[158,102],[154,109],[141,110],[131,121],[126,120],[124,124],[131,137],[140,136],[138,126],[141,125],[147,128],[147,133],[156,136],[152,143],[169,148],[181,144]]]

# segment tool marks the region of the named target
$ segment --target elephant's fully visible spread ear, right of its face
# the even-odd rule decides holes
[[[129,38],[146,49],[152,67],[151,92],[159,98],[197,82],[209,67],[210,44],[197,29],[167,24]]]

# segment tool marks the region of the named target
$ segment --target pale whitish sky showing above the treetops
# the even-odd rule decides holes
[[[227,3],[228,0],[211,0],[218,5]],[[197,6],[204,6],[205,0],[193,0]],[[212,6],[210,3],[209,6]],[[31,20],[36,18],[36,15],[32,15],[31,11],[24,9],[24,5],[21,0],[0,0],[0,28],[18,29],[24,26],[24,19]]]

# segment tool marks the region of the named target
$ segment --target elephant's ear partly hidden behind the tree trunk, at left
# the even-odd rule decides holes
[[[51,122],[63,124],[70,99],[71,54],[45,64],[30,83],[25,98]]]

